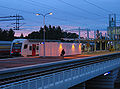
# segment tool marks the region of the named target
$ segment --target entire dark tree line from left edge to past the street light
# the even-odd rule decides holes
[[[32,33],[28,34],[28,36],[24,37],[23,34],[21,34],[20,37],[15,37],[14,34],[15,32],[10,29],[10,30],[2,30],[0,28],[0,40],[1,41],[12,41],[14,39],[19,39],[19,38],[26,38],[26,39],[43,39],[43,34],[44,34],[44,29],[45,29],[45,39],[48,40],[60,40],[61,38],[78,38],[78,35],[76,33],[70,33],[70,32],[65,32],[61,29],[60,26],[51,26],[49,25],[44,26],[44,28],[40,28],[39,31],[33,31]]]

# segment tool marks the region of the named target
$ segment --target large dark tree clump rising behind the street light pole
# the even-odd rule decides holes
[[[44,29],[45,29],[45,39],[49,40],[60,40],[61,38],[78,38],[78,35],[76,33],[68,33],[65,32],[61,29],[60,26],[51,26],[49,25],[44,26],[44,28],[40,28],[39,31],[34,31],[30,34],[28,34],[27,38],[29,39],[43,39],[43,34],[44,34]]]

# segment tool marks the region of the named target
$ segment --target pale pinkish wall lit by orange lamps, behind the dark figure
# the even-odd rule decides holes
[[[40,56],[44,55],[43,46],[40,44]],[[81,54],[81,43],[46,42],[45,56],[60,56],[62,49],[65,50],[65,55]]]

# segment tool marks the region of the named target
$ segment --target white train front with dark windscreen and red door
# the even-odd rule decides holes
[[[38,55],[39,43],[40,41],[32,39],[15,39],[12,42],[10,54],[14,56]]]

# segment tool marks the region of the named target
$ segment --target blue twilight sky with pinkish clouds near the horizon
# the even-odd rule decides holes
[[[38,31],[43,26],[43,17],[35,13],[53,15],[46,16],[46,25],[61,26],[63,29],[89,28],[106,30],[108,15],[120,15],[120,0],[0,0],[0,17],[22,15],[25,20],[20,31],[26,35]],[[1,19],[1,18],[0,18]],[[0,28],[9,29],[15,21],[0,21]]]

